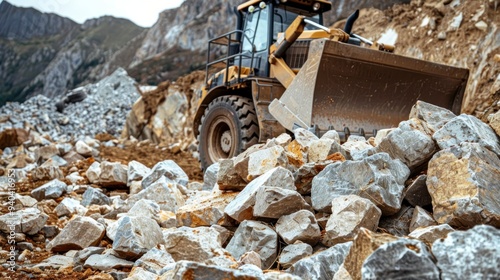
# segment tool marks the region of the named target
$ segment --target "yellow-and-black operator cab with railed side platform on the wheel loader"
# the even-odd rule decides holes
[[[322,24],[323,12],[331,9],[328,1],[317,1],[317,5],[303,2],[248,1],[238,6],[237,29],[209,41],[208,88],[238,84],[248,76],[269,77],[270,47],[278,40],[278,34],[284,33],[299,15]],[[309,25],[305,28],[315,27]],[[224,49],[221,58],[211,57],[216,49]]]

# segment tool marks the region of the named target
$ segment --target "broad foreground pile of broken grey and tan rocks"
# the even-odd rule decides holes
[[[17,223],[19,273],[496,279],[500,140],[491,127],[418,102],[376,138],[340,144],[335,131],[297,129],[216,163],[203,184],[171,160],[99,162],[99,141],[51,143],[32,131],[2,160],[19,185],[46,183],[15,195],[0,230]],[[31,262],[43,250],[52,256]]]

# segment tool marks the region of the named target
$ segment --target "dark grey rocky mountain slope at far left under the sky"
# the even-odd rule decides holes
[[[77,24],[55,14],[0,4],[0,105],[42,94],[53,98],[126,67],[117,51],[143,28],[102,17]],[[109,67],[110,61],[115,62]]]

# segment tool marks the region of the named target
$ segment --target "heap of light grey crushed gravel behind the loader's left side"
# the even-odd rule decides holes
[[[98,133],[118,137],[140,93],[135,81],[120,68],[98,83],[74,89],[66,96],[70,98],[66,98],[62,112],[56,110],[59,109],[56,108],[59,101],[42,95],[22,104],[6,104],[0,108],[0,131],[9,128],[31,129],[47,134],[54,140],[69,140],[70,137],[78,139]]]

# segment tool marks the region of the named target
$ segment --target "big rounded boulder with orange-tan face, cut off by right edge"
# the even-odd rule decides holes
[[[439,224],[500,226],[500,159],[478,143],[462,143],[429,162],[427,187]]]

